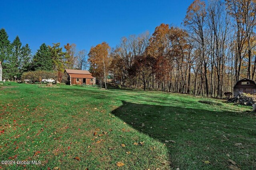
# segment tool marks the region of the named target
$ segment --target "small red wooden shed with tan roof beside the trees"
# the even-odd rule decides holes
[[[96,79],[88,70],[65,69],[68,74],[69,85],[95,85]]]

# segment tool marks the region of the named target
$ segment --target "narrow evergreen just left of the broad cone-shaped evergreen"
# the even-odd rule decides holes
[[[20,57],[20,74],[22,75],[23,72],[30,71],[31,69],[31,49],[26,44],[21,48],[21,57]]]

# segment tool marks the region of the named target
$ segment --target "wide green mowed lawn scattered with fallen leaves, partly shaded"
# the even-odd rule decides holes
[[[256,114],[201,99],[6,84],[0,87],[0,160],[41,164],[0,169],[256,169]]]

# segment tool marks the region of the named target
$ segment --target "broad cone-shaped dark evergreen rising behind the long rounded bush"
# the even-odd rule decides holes
[[[32,60],[32,70],[53,70],[53,61],[49,47],[43,43],[37,50]]]

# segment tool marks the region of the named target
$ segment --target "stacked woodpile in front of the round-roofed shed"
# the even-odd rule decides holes
[[[239,95],[228,99],[228,102],[236,103],[240,105],[252,106],[254,103],[256,103],[256,99],[252,95],[248,95],[246,93],[240,93]]]

